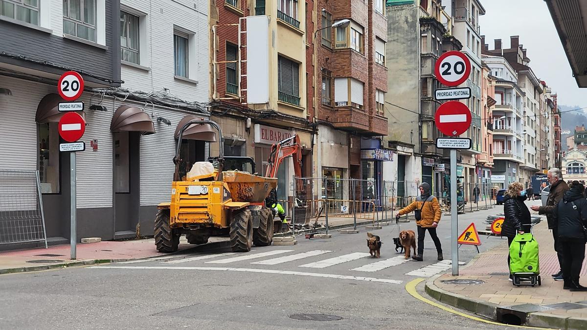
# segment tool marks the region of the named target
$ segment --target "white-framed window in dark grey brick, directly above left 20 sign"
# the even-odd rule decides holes
[[[63,33],[96,42],[96,0],[63,0]]]

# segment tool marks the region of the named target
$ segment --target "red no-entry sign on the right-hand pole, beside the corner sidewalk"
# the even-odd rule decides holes
[[[448,101],[436,110],[436,127],[447,136],[459,136],[471,126],[471,110],[462,102]]]

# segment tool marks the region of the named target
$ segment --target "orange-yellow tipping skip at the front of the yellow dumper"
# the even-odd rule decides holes
[[[222,173],[233,201],[262,203],[277,187],[277,178],[255,176],[239,171]]]

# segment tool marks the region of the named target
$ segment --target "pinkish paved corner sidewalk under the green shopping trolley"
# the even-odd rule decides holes
[[[540,287],[515,287],[508,281],[507,240],[479,254],[460,276],[437,275],[426,283],[426,292],[441,302],[487,316],[498,322],[557,329],[587,329],[587,292],[562,289],[554,281],[558,259],[546,221],[534,227],[540,243]],[[460,283],[451,280],[473,280]],[[587,265],[583,263],[581,282],[587,285]]]

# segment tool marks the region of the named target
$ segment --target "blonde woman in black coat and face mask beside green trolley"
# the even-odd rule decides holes
[[[532,223],[530,218],[530,211],[524,201],[525,196],[522,196],[522,186],[519,182],[514,182],[508,187],[504,198],[504,223],[501,225],[501,235],[508,238],[508,247],[514,241],[516,234],[524,234],[528,231],[528,225]],[[508,267],[510,267],[510,253],[508,249]],[[514,278],[510,274],[510,281]]]

